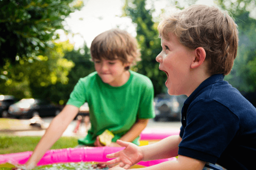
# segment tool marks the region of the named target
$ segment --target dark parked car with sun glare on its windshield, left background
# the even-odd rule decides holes
[[[50,102],[41,99],[21,99],[19,102],[10,105],[9,114],[15,118],[32,118],[33,116],[56,116],[61,108]]]

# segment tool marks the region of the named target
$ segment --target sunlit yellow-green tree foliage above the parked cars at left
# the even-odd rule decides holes
[[[14,95],[17,98],[34,97],[52,100],[54,86],[58,83],[67,84],[68,74],[74,63],[64,58],[67,51],[73,50],[69,41],[53,42],[54,48],[47,47],[44,55],[34,59],[19,60],[15,67],[6,62],[0,71],[0,93]]]

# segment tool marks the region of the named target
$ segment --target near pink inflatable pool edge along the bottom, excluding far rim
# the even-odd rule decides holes
[[[114,153],[124,149],[123,147],[80,147],[80,148],[67,148],[58,150],[48,150],[43,158],[38,162],[37,166],[55,164],[55,163],[67,163],[67,162],[105,162],[110,159],[106,158],[109,153]],[[21,152],[0,155],[0,164],[9,162],[11,164],[24,164],[32,152]],[[176,158],[158,159],[154,161],[140,161],[138,165],[145,167],[159,164],[164,161],[176,160]]]

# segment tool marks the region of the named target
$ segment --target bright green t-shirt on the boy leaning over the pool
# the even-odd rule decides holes
[[[79,79],[67,102],[67,105],[78,108],[84,102],[89,105],[91,128],[85,138],[79,139],[79,144],[93,145],[96,136],[106,129],[115,135],[112,142],[116,142],[137,119],[154,118],[154,88],[151,80],[134,71],[130,73],[128,81],[120,87],[102,82],[97,72]],[[133,143],[140,144],[139,136]]]

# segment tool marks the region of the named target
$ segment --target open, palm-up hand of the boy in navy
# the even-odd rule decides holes
[[[124,169],[128,169],[134,164],[137,164],[139,161],[143,160],[143,153],[136,144],[131,142],[124,142],[121,140],[116,141],[122,147],[125,147],[124,150],[120,150],[116,153],[108,154],[107,158],[116,158],[110,161],[107,161],[106,164],[108,165],[115,165],[115,167],[123,167]],[[122,170],[123,168],[113,169],[113,170]],[[112,169],[111,169],[112,170]]]

